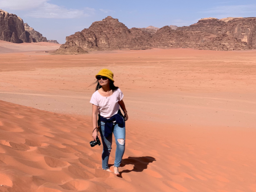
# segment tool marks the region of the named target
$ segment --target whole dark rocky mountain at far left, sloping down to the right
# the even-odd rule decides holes
[[[0,40],[12,43],[47,42],[41,33],[35,31],[15,14],[0,9]]]

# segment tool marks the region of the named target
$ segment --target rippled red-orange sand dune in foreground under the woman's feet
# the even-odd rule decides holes
[[[101,147],[89,145],[88,120],[0,101],[0,189],[255,191],[255,129],[161,125],[155,132],[136,123],[116,177],[101,169]]]

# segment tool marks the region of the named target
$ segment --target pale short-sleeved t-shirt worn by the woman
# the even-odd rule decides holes
[[[117,114],[119,110],[118,101],[124,97],[122,91],[118,88],[111,96],[104,97],[99,91],[95,91],[91,96],[91,104],[99,106],[99,114],[107,119]]]

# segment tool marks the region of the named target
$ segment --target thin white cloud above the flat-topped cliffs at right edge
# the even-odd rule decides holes
[[[228,17],[243,17],[250,13],[256,13],[256,5],[224,5],[215,8],[210,8],[200,13],[211,13],[215,17],[220,18],[220,16]]]

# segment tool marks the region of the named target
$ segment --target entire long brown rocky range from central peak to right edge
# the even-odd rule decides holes
[[[66,37],[59,52],[149,48],[256,49],[256,18],[204,18],[190,26],[170,25],[156,30],[153,26],[128,29],[108,16]]]

